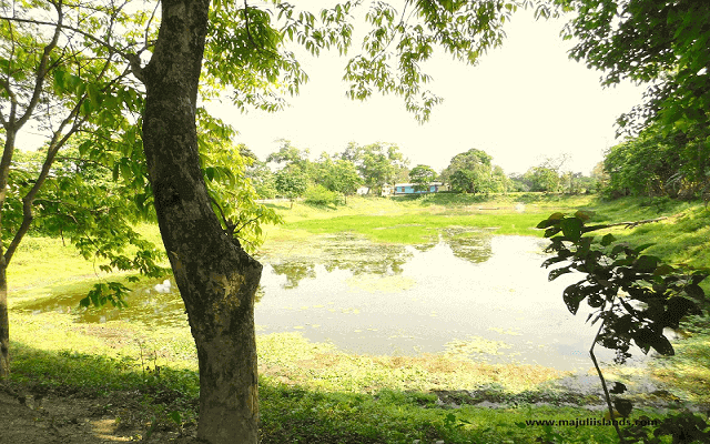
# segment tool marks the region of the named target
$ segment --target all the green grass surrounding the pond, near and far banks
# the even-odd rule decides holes
[[[550,213],[585,209],[597,222],[666,216],[658,223],[613,232],[632,243],[656,242],[649,251],[667,261],[710,265],[703,249],[710,211],[698,203],[437,194],[353,198],[338,208],[296,203],[291,209],[287,202],[270,205],[285,220],[283,225],[265,228],[262,250],[272,256],[291,254],[292,250],[283,248],[285,243],[305,244],[313,235],[343,231],[374,242],[407,244],[432,242],[450,226],[540,236],[531,226]],[[161,246],[154,225],[139,230]],[[186,325],[151,329],[125,321],[85,325],[73,323],[64,313],[13,310],[30,300],[85,292],[106,278],[95,270],[97,264],[78,256],[61,240],[31,238],[22,245],[9,276],[11,386],[103,400],[105,411],[118,422],[139,430],[160,423],[166,430],[194,432],[196,359]],[[689,324],[688,334],[690,337],[677,345],[678,356],[658,360],[653,372],[684,400],[709,403],[710,335],[700,320]],[[264,443],[616,442],[612,427],[525,424],[601,416],[586,408],[590,400],[546,391],[545,383],[564,376],[551,369],[485,364],[450,354],[353,355],[286,333],[260,335],[257,345]],[[479,407],[470,405],[470,398],[454,396],[452,401],[452,396],[440,395],[458,390],[476,390],[476,402],[493,400],[503,407]],[[540,400],[546,404],[540,405]],[[632,417],[641,414],[658,417],[642,411],[635,411]]]

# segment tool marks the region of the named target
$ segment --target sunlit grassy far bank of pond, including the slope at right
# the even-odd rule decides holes
[[[427,243],[444,228],[486,230],[494,234],[542,236],[535,225],[554,212],[586,210],[591,222],[618,223],[666,218],[632,229],[618,226],[612,232],[632,244],[652,243],[649,254],[670,263],[710,268],[710,211],[701,202],[660,198],[627,198],[601,201],[594,195],[565,196],[538,193],[511,193],[496,196],[432,194],[419,199],[351,198],[338,208],[317,208],[296,203],[271,204],[285,224],[266,229],[270,250],[291,236],[352,232],[375,242]],[[708,286],[710,289],[710,286]]]

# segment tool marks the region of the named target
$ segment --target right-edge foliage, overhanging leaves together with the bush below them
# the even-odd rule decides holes
[[[564,31],[571,58],[601,83],[648,84],[645,103],[618,119],[630,137],[611,149],[611,196],[710,195],[710,9],[701,0],[556,0],[576,11]]]

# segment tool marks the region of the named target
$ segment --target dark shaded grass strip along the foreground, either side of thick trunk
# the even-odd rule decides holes
[[[47,352],[21,343],[12,343],[12,375],[6,384],[14,392],[67,402],[92,398],[102,405],[104,416],[120,414],[142,430],[160,424],[162,431],[172,427],[183,436],[185,431],[194,435],[196,372],[146,365],[140,359]],[[525,421],[585,412],[519,405],[513,410],[481,408],[452,393],[321,392],[268,376],[260,380],[260,404],[262,443],[535,443],[540,431],[525,426]],[[570,443],[613,442],[607,428],[562,427],[559,432]]]

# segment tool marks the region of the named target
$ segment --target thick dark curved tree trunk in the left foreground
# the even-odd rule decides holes
[[[222,230],[197,154],[195,109],[209,0],[162,1],[145,87],[143,144],[165,250],[200,361],[197,436],[257,442],[254,295],[262,265]]]

